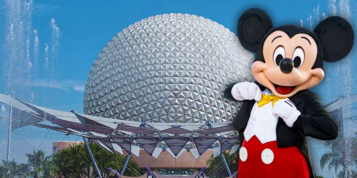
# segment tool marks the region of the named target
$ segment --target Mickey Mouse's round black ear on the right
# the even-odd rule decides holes
[[[355,35],[350,23],[342,17],[328,17],[315,28],[323,48],[323,60],[335,62],[351,51]]]

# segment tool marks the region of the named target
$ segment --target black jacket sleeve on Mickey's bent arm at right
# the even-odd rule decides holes
[[[304,111],[295,121],[294,126],[304,136],[320,140],[333,140],[338,134],[336,121],[323,108],[316,95],[305,101]]]

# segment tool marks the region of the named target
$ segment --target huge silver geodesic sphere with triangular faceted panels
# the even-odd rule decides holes
[[[95,60],[84,113],[150,122],[232,120],[241,103],[223,98],[233,82],[252,81],[253,54],[217,22],[164,14],[130,25]]]

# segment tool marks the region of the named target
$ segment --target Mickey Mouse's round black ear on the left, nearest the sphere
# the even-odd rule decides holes
[[[264,35],[273,28],[269,15],[260,9],[245,11],[238,20],[238,39],[250,52],[256,52]]]

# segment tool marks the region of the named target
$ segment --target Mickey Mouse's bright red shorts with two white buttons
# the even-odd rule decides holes
[[[309,178],[307,160],[296,147],[279,148],[276,141],[262,144],[256,136],[244,139],[240,150],[239,178]]]

